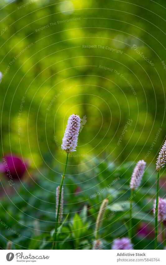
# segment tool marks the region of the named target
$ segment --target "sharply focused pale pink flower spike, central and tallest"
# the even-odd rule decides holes
[[[81,119],[78,115],[71,115],[64,133],[61,148],[67,153],[76,151]]]

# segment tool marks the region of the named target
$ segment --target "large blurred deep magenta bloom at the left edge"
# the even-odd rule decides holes
[[[0,163],[0,172],[10,179],[21,179],[27,167],[27,161],[23,162],[19,156],[5,155]]]

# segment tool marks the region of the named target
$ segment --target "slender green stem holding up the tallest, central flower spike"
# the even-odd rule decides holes
[[[61,199],[61,194],[62,194],[63,181],[64,181],[64,177],[65,177],[65,173],[66,173],[66,167],[67,167],[67,164],[68,164],[68,157],[69,157],[69,153],[67,153],[66,164],[65,164],[65,167],[64,167],[64,173],[62,175],[60,188],[59,188],[59,202],[58,202],[58,210],[57,210],[56,222],[55,222],[55,232],[54,232],[54,236],[53,236],[54,237],[54,242],[53,242],[53,247],[52,247],[53,249],[55,249],[55,247],[56,247],[58,218],[59,218],[59,209],[60,209],[60,199]]]

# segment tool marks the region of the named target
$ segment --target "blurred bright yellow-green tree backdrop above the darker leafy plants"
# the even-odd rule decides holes
[[[64,162],[77,113],[86,122],[75,156],[154,162],[165,138],[164,6],[1,0],[1,154]]]

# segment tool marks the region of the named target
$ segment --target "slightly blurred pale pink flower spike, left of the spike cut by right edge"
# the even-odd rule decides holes
[[[138,189],[140,186],[141,179],[145,171],[145,165],[146,162],[144,160],[139,160],[136,164],[130,180],[130,189]]]

